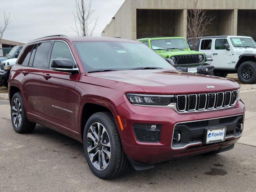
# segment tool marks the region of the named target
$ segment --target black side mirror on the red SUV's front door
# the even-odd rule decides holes
[[[70,59],[54,59],[51,62],[51,68],[54,71],[62,71],[68,73],[78,72],[78,68],[73,68],[74,64]]]

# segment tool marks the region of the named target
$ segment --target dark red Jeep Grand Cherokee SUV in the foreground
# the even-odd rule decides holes
[[[242,134],[239,84],[175,70],[121,38],[49,36],[28,42],[9,77],[12,125],[36,123],[84,145],[104,179],[175,157],[230,150]]]

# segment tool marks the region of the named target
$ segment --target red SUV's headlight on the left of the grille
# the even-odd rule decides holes
[[[172,102],[174,95],[144,95],[144,94],[126,94],[132,104],[140,105],[160,105],[167,106]]]

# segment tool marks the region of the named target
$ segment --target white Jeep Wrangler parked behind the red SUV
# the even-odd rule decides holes
[[[191,44],[191,39],[188,43]],[[196,50],[212,55],[214,75],[237,73],[242,83],[256,83],[256,43],[246,36],[208,36],[196,43]]]

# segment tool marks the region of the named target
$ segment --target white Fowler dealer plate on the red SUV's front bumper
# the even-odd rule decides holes
[[[207,129],[206,144],[222,142],[225,140],[226,127]]]

